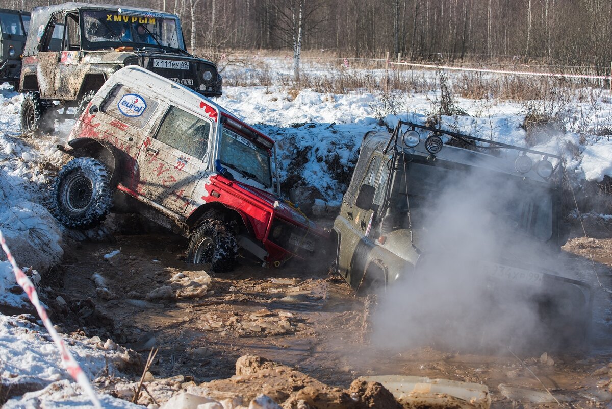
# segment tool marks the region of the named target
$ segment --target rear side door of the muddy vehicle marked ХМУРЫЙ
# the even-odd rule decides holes
[[[61,59],[62,37],[64,36],[64,14],[51,16],[47,29],[43,33],[38,51],[36,78],[38,79],[40,96],[53,99],[61,78],[58,77],[58,64]]]

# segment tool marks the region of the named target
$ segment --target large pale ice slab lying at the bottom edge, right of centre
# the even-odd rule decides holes
[[[488,409],[491,406],[489,388],[479,383],[381,375],[360,377],[367,382],[381,383],[405,407],[453,407],[461,409]]]

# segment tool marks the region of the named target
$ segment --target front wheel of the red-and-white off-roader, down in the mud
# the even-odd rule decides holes
[[[191,236],[188,263],[210,264],[213,272],[227,272],[236,267],[236,236],[226,223],[206,219]]]

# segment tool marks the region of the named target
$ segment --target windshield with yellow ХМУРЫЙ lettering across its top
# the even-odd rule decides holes
[[[184,50],[174,17],[133,17],[116,10],[84,10],[85,39],[100,47],[170,47]]]

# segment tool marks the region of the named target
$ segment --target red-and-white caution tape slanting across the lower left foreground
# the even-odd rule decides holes
[[[17,279],[17,283],[21,286],[21,288],[23,288],[23,291],[26,291],[28,298],[39,313],[39,317],[45,325],[45,328],[47,328],[47,331],[49,331],[49,334],[51,335],[51,338],[53,338],[55,345],[58,347],[59,355],[62,358],[62,364],[64,365],[65,369],[68,371],[68,373],[70,373],[70,376],[74,378],[74,380],[77,381],[79,385],[81,385],[81,388],[83,388],[83,390],[88,394],[89,399],[94,404],[94,407],[101,409],[102,405],[100,405],[98,397],[95,396],[94,389],[91,387],[91,383],[89,383],[87,375],[85,375],[78,362],[75,361],[68,348],[66,348],[66,344],[64,343],[64,340],[59,336],[58,331],[53,328],[53,323],[51,323],[51,320],[47,315],[47,311],[42,306],[42,304],[40,304],[38,293],[36,292],[34,285],[30,281],[28,276],[26,276],[24,272],[21,271],[21,269],[17,266],[17,263],[15,263],[15,259],[10,253],[9,247],[6,245],[6,241],[4,240],[4,236],[2,235],[2,230],[0,230],[0,244],[2,244],[2,249],[6,253],[6,257],[8,258],[9,263],[13,266],[13,272],[15,272],[15,278]]]

